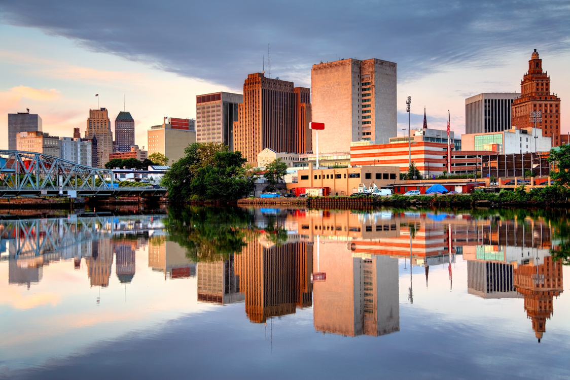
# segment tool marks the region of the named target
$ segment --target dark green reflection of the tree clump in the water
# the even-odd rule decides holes
[[[241,208],[170,208],[164,224],[168,240],[186,248],[194,262],[221,261],[246,245],[244,230],[253,224],[253,214]]]

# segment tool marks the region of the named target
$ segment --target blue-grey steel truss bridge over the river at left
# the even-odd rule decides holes
[[[163,187],[113,187],[113,171],[37,152],[0,150],[0,197],[160,197]]]

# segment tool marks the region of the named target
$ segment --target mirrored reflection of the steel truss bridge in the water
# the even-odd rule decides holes
[[[93,240],[122,233],[164,229],[161,216],[92,216],[0,221],[0,252],[9,257],[32,257],[60,252]],[[81,254],[78,250],[77,254]]]

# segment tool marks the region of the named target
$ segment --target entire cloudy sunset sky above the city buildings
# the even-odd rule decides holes
[[[99,106],[112,123],[130,111],[146,146],[146,130],[164,116],[196,117],[196,95],[242,93],[247,74],[267,70],[269,45],[271,77],[295,86],[310,87],[320,61],[396,62],[400,134],[408,96],[412,127],[425,107],[428,126],[445,129],[449,110],[462,134],[465,98],[520,92],[536,48],[567,133],[569,19],[568,1],[2,0],[0,131],[7,114],[30,108],[44,132],[84,133]]]

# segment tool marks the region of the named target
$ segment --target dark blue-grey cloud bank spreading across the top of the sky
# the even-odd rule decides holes
[[[237,89],[248,73],[262,69],[263,55],[267,68],[268,43],[272,76],[303,86],[310,84],[311,65],[321,60],[390,60],[406,81],[450,66],[498,66],[508,53],[532,47],[570,50],[570,5],[564,0],[541,3],[540,17],[536,2],[526,0],[4,0],[0,19]]]

